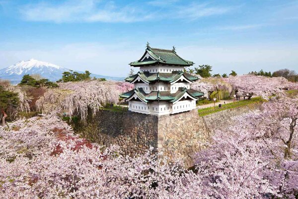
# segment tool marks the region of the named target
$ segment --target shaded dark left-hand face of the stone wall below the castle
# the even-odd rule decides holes
[[[99,110],[87,122],[76,124],[74,131],[100,145],[118,145],[122,155],[135,155],[156,148],[157,123],[154,115]]]

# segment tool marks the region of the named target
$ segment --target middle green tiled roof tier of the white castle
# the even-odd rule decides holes
[[[172,72],[172,73],[148,73],[148,72],[139,72],[136,75],[130,76],[125,79],[127,82],[133,82],[136,78],[140,77],[142,81],[146,83],[154,83],[154,82],[165,82],[172,83],[178,80],[181,76],[184,76],[187,80],[194,82],[198,80],[197,77],[192,76],[188,73],[184,73],[182,71]]]

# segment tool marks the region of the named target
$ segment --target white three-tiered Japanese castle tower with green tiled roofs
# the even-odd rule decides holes
[[[120,97],[129,102],[133,112],[165,115],[192,110],[196,100],[204,95],[190,89],[190,83],[198,78],[184,72],[184,67],[193,64],[177,55],[175,47],[165,50],[151,48],[147,43],[141,59],[130,63],[140,67],[140,71],[125,79],[135,88]]]

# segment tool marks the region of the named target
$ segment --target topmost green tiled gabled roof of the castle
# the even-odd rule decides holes
[[[149,53],[149,55],[153,58],[144,59],[141,61],[144,56]],[[176,65],[176,66],[192,66],[194,63],[192,61],[188,61],[182,59],[179,55],[177,55],[175,49],[166,50],[159,48],[151,48],[149,45],[144,53],[144,55],[138,61],[131,62],[131,66],[140,67],[144,65],[153,65],[153,64],[168,64],[168,65]]]

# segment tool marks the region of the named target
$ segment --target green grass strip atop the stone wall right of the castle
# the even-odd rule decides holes
[[[221,108],[219,108],[219,106],[215,106],[214,107],[208,107],[208,108],[203,108],[203,109],[199,109],[198,113],[200,116],[204,116],[204,115],[208,115],[214,112],[219,112],[222,110],[226,110],[226,109],[230,109],[230,108],[236,108],[236,107],[240,107],[240,106],[247,106],[249,104],[254,104],[254,103],[260,103],[263,102],[264,100],[259,98],[252,98],[250,100],[242,100],[242,101],[235,101],[232,103],[227,103],[227,104],[223,104]]]

